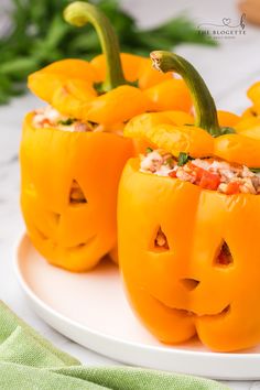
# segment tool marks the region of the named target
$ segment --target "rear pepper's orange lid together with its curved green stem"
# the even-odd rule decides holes
[[[63,59],[33,73],[29,88],[36,96],[62,113],[106,126],[122,123],[145,111],[191,110],[191,96],[182,79],[159,74],[151,68],[149,58],[119,56],[115,33],[106,33],[107,18],[93,6],[77,1],[66,8],[64,15],[77,26],[90,21],[104,55],[90,63]]]

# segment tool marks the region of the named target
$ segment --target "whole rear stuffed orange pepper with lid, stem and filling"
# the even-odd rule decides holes
[[[21,206],[29,236],[47,261],[84,271],[108,252],[117,258],[118,182],[134,153],[132,140],[122,137],[124,123],[147,110],[188,111],[192,101],[183,80],[151,71],[149,58],[120,55],[113,29],[96,7],[75,2],[64,17],[76,26],[90,22],[102,55],[58,61],[30,75],[29,88],[48,106],[24,120]]]

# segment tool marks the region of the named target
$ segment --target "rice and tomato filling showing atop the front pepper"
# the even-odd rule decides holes
[[[140,171],[170,176],[199,185],[205,189],[231,194],[260,194],[260,174],[245,165],[231,164],[216,158],[188,160],[180,164],[171,153],[161,149],[141,155]]]

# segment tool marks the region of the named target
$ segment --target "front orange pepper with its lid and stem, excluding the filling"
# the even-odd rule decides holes
[[[126,134],[140,134],[174,155],[213,155],[260,166],[259,141],[219,127],[214,100],[192,65],[164,52],[152,58],[160,69],[174,69],[186,80],[196,126],[171,124],[162,112],[161,124],[145,117],[150,124],[141,127],[139,116]],[[260,342],[260,196],[236,194],[237,188],[221,194],[213,191],[217,177],[197,174],[204,188],[140,172],[138,158],[127,163],[119,186],[118,240],[128,296],[163,343],[197,334],[218,351],[252,347]]]

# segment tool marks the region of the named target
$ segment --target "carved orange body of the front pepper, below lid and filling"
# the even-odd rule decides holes
[[[163,343],[196,333],[215,350],[260,342],[260,197],[139,172],[119,189],[119,259],[130,302]]]

